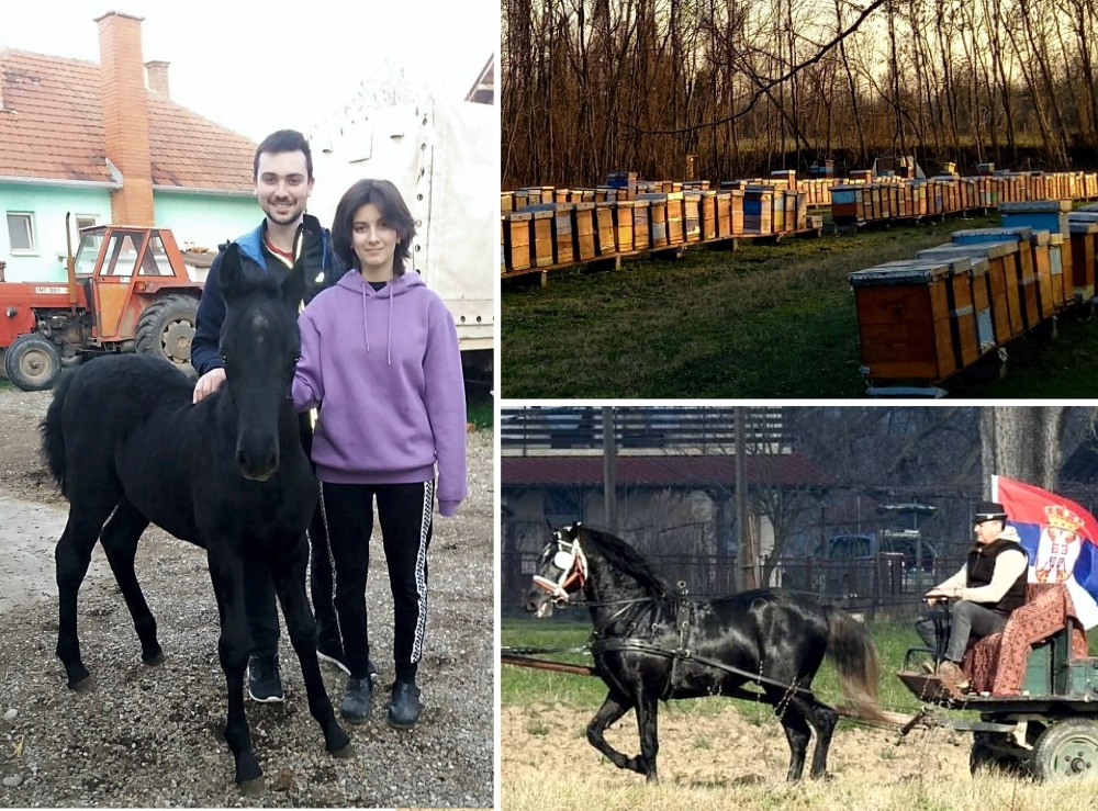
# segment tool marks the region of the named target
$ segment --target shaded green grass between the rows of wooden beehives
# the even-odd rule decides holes
[[[680,260],[630,259],[619,272],[557,270],[545,289],[505,283],[503,396],[863,396],[848,274],[998,223],[993,214],[736,251],[699,247]],[[968,375],[946,387],[973,397],[1098,396],[1098,329],[1082,312],[1060,322],[1051,345],[1010,345],[1005,380]]]

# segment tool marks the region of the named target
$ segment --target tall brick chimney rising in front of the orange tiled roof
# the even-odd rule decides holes
[[[111,193],[111,221],[153,225],[153,167],[148,143],[148,98],[141,53],[142,18],[108,12],[99,23],[100,101],[107,157],[124,178]]]

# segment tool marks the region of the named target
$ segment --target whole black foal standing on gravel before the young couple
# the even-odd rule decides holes
[[[156,523],[206,550],[221,615],[217,650],[228,691],[225,740],[236,781],[265,790],[244,714],[244,673],[251,647],[245,616],[245,566],[267,566],[293,649],[309,709],[326,748],[351,753],[324,689],[316,633],[305,596],[305,528],[316,508],[316,482],[301,449],[289,399],[300,353],[296,312],[300,266],[281,285],[250,280],[235,245],[221,264],[226,314],[221,337],[226,380],[198,405],[193,384],[150,356],[88,362],[64,378],[42,423],[43,452],[69,500],[57,542],[60,628],[57,655],[68,685],[90,686],[80,661],[77,593],[97,539],[103,544],[141,640],[146,663],[163,660],[156,620],[134,573],[137,541]]]

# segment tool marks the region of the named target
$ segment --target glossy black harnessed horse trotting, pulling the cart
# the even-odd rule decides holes
[[[741,592],[714,600],[676,594],[629,544],[582,526],[553,534],[538,560],[526,610],[539,616],[552,600],[583,593],[594,624],[591,653],[609,695],[587,725],[587,741],[618,768],[657,779],[657,701],[744,696],[757,683],[785,729],[792,758],[788,779],[804,770],[811,730],[810,775],[827,770],[838,712],[811,692],[813,678],[830,656],[843,695],[875,716],[877,657],[861,623],[805,595],[777,588]],[[626,757],[603,733],[637,711],[640,754]]]

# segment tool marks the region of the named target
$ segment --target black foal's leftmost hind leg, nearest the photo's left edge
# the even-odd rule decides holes
[[[80,505],[74,499],[69,505],[69,517],[65,523],[54,561],[57,575],[59,620],[57,628],[57,657],[65,666],[68,686],[74,690],[92,687],[88,668],[80,661],[80,639],[77,634],[77,597],[80,585],[88,574],[91,550],[99,539],[99,530],[111,514],[114,502],[100,499],[90,505]]]

